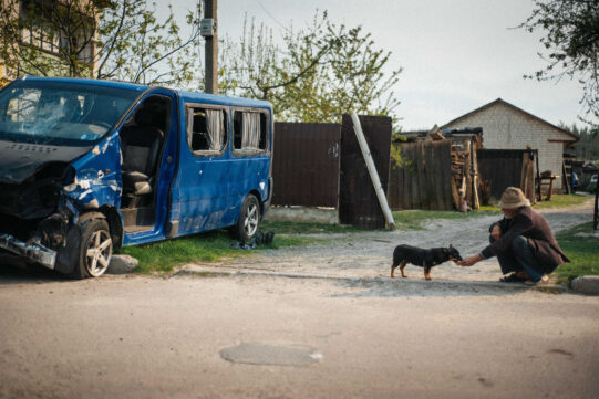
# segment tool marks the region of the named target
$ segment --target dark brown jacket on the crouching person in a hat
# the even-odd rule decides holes
[[[485,259],[497,254],[508,253],[512,241],[523,235],[528,239],[528,245],[535,254],[535,259],[545,273],[551,273],[558,265],[570,260],[556,241],[547,220],[530,207],[520,207],[512,219],[504,218],[494,223],[502,229],[502,238],[481,253]]]

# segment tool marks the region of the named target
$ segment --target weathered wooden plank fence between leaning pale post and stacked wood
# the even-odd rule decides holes
[[[402,166],[391,164],[388,200],[392,209],[452,210],[451,141],[400,146]]]

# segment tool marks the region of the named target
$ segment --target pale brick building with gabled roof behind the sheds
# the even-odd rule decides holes
[[[483,147],[496,149],[538,149],[540,171],[561,175],[564,148],[578,138],[502,98],[474,109],[441,126],[445,128],[483,128]],[[554,188],[561,191],[561,179]]]

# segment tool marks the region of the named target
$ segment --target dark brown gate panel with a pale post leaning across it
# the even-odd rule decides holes
[[[391,118],[360,116],[370,153],[386,192],[391,149]],[[355,138],[353,123],[343,115],[341,124],[341,159],[339,177],[339,222],[365,229],[382,229],[385,219],[370,179],[366,164]]]

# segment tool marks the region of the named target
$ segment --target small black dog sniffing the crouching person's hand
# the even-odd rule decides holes
[[[431,267],[447,261],[461,261],[459,252],[450,245],[448,248],[432,248],[423,250],[412,245],[397,245],[393,251],[393,264],[391,265],[391,279],[395,277],[395,269],[400,266],[402,277],[407,277],[404,273],[407,263],[415,264],[424,269],[424,279],[431,280]]]

